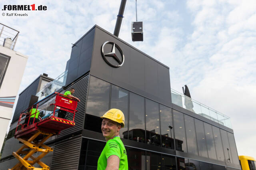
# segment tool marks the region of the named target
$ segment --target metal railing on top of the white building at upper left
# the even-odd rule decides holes
[[[20,32],[0,23],[0,45],[14,50]]]

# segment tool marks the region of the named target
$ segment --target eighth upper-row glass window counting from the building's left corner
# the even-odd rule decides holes
[[[204,124],[202,121],[195,119],[195,125],[199,156],[204,156],[208,158],[206,138],[204,133]]]

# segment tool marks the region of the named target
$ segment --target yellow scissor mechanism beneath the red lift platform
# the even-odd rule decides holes
[[[44,135],[44,137],[38,142],[35,139],[39,135]],[[44,162],[40,161],[40,159],[42,159],[49,152],[53,151],[51,147],[44,144],[44,142],[53,135],[56,134],[45,133],[37,130],[37,132],[28,140],[17,138],[20,142],[23,143],[23,145],[16,152],[12,152],[12,155],[19,160],[19,163],[9,170],[50,170],[50,167],[44,164]],[[24,150],[27,148],[29,150]],[[35,158],[32,155],[36,152],[42,152],[42,154]],[[22,158],[20,154],[25,154],[25,156]],[[32,160],[28,160],[28,158],[31,158]],[[39,164],[42,168],[35,168],[33,165],[36,163]]]

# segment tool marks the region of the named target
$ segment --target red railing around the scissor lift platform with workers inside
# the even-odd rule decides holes
[[[30,125],[43,121],[44,119],[48,119],[49,117],[58,117],[60,110],[67,112],[66,117],[73,114],[71,120],[69,121],[74,122],[76,106],[76,99],[54,92],[44,99],[38,101],[28,109],[22,111],[15,133]],[[36,117],[38,117],[38,119]]]

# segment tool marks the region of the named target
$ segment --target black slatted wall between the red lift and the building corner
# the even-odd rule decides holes
[[[66,130],[63,130],[57,136],[57,138],[60,138],[62,136],[68,135],[68,134],[72,134],[74,132],[77,132],[77,131],[83,129],[88,84],[89,84],[89,74],[86,74],[81,79],[78,79],[78,81],[76,81],[74,84],[67,87],[67,90],[71,87],[74,88],[75,89],[74,96],[78,97],[78,99],[80,99],[80,102],[78,102],[77,109],[76,109],[78,112],[76,112],[76,115],[75,115],[76,125],[72,128],[68,128]]]

